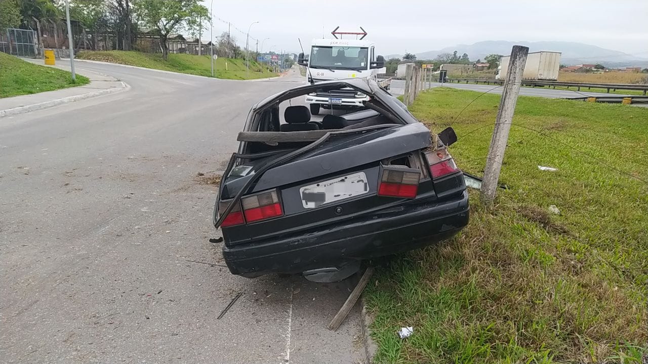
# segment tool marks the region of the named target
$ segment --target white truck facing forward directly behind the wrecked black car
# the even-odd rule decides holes
[[[339,28],[339,27],[338,27]],[[335,39],[314,39],[310,45],[310,56],[299,53],[297,63],[307,67],[308,82],[317,83],[343,78],[373,78],[385,89],[391,80],[378,80],[379,73],[386,73],[385,58],[376,55],[375,43],[365,41],[366,32],[331,32]],[[362,27],[360,28],[362,29]],[[338,35],[362,35],[359,40],[338,39]],[[306,97],[310,113],[318,115],[320,108],[360,109],[367,95],[351,89],[318,91]]]

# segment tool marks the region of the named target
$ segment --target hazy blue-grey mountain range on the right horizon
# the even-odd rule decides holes
[[[458,44],[438,51],[416,53],[416,58],[419,60],[432,60],[436,58],[437,54],[457,51],[459,56],[467,53],[470,60],[483,60],[488,54],[511,54],[513,45],[526,45],[529,47],[529,52],[562,52],[561,63],[565,65],[601,63],[606,67],[648,67],[648,58],[572,41],[480,41],[470,45]],[[401,57],[402,54],[390,54],[388,59]]]

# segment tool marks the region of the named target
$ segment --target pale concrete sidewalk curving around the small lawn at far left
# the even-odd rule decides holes
[[[23,60],[38,65],[44,65],[43,60],[34,60],[31,58],[23,58]],[[60,60],[58,60],[57,63],[57,65],[47,67],[56,67],[58,69],[69,71],[69,63],[67,64],[67,67],[61,64],[62,61]],[[86,98],[108,95],[130,89],[128,84],[112,76],[87,70],[82,71],[81,74],[90,79],[89,84],[55,91],[34,93],[32,95],[0,98],[0,117],[51,108],[53,106],[65,104],[66,102],[84,100]]]

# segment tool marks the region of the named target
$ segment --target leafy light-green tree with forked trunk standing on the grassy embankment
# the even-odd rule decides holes
[[[168,35],[182,30],[189,19],[209,16],[209,10],[200,5],[199,0],[136,0],[133,5],[141,23],[157,30],[165,60],[168,57]]]

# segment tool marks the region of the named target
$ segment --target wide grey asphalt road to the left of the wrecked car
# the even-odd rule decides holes
[[[249,280],[223,264],[218,173],[252,104],[303,83],[78,63],[132,89],[0,119],[0,361],[352,363],[351,282]],[[242,297],[216,319],[238,292]]]

